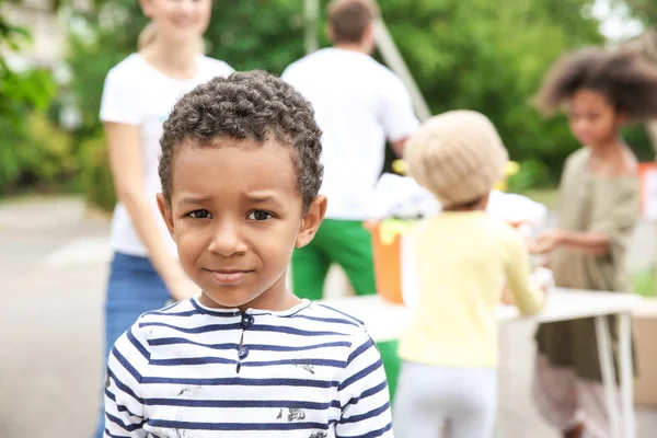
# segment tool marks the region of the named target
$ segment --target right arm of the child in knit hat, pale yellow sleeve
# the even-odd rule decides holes
[[[532,285],[529,252],[525,241],[514,230],[506,241],[506,277],[514,303],[522,314],[535,314],[545,304],[545,293]]]

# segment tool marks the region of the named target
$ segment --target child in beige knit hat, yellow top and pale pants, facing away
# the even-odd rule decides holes
[[[408,174],[443,208],[413,231],[418,297],[400,343],[395,436],[433,438],[447,425],[451,438],[492,437],[503,280],[521,313],[544,303],[522,238],[485,212],[508,154],[493,124],[471,111],[430,118],[406,148]]]

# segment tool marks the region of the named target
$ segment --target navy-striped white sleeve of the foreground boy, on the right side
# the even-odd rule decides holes
[[[393,437],[388,380],[381,355],[362,330],[354,336],[344,378],[337,387],[342,415],[335,427],[339,437]]]

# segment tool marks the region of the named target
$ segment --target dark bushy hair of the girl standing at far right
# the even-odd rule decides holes
[[[657,116],[657,68],[638,50],[589,47],[567,54],[546,74],[532,103],[551,115],[583,89],[604,94],[633,120]]]

